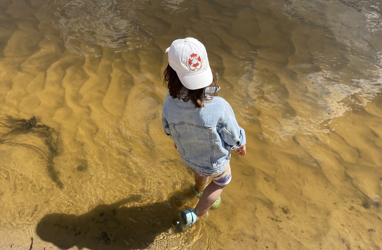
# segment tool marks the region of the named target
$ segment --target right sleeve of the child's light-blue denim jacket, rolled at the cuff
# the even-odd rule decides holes
[[[246,144],[244,129],[237,123],[229,103],[225,107],[225,117],[220,126],[220,136],[231,149],[240,148]]]

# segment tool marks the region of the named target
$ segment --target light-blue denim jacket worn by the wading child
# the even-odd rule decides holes
[[[207,88],[206,94],[209,91]],[[244,129],[239,127],[230,104],[221,97],[196,108],[191,100],[184,102],[168,94],[163,103],[162,123],[183,162],[204,174],[222,171],[230,160],[230,149],[246,143]]]

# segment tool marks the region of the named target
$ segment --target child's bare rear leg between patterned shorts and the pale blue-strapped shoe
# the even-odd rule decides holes
[[[220,194],[222,194],[224,187],[225,185],[220,186],[213,181],[208,184],[196,205],[195,212],[197,217],[204,215],[210,209],[212,204],[214,204]]]

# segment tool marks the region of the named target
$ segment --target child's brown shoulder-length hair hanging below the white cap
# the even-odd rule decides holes
[[[218,74],[211,68],[212,71],[212,83],[208,87],[215,88],[215,91],[210,92],[209,94],[213,94],[217,91],[217,79]],[[201,89],[187,89],[181,83],[178,74],[176,71],[171,68],[170,64],[167,65],[167,68],[163,72],[163,82],[166,84],[168,88],[168,92],[170,93],[172,98],[183,99],[183,102],[188,102],[191,100],[197,108],[204,107],[204,102],[212,100],[212,96],[206,95],[206,87]],[[183,92],[183,90],[186,92]],[[188,92],[187,92],[188,91]],[[180,98],[180,95],[185,93],[185,97]]]

